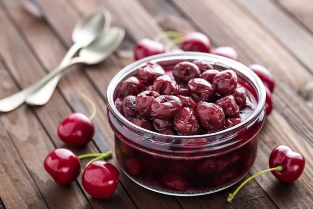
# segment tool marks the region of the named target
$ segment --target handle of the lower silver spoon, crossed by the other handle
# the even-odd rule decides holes
[[[71,58],[74,57],[74,55],[81,47],[82,47],[81,44],[74,43],[64,56],[59,67],[65,66],[71,60]],[[62,76],[61,73],[56,75],[54,78],[51,78],[46,84],[44,84],[42,88],[38,89],[37,91],[27,96],[26,103],[28,105],[34,106],[45,105],[45,103],[49,101],[52,94],[54,93],[61,76]]]

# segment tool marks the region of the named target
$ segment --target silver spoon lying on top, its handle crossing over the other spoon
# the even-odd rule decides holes
[[[25,98],[32,92],[45,85],[51,78],[61,73],[64,69],[77,63],[94,65],[109,57],[121,44],[125,36],[125,30],[119,27],[111,28],[107,33],[101,32],[94,41],[79,51],[79,56],[72,58],[66,65],[58,66],[49,72],[41,80],[27,88],[0,100],[0,112],[10,112],[19,107]],[[21,99],[22,98],[22,99]]]

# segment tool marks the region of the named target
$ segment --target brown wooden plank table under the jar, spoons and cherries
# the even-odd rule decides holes
[[[118,51],[100,65],[68,70],[47,105],[23,105],[0,115],[0,208],[313,208],[311,0],[0,0],[0,97],[56,67],[72,44],[78,19],[103,7],[112,13],[114,25],[127,30]],[[267,169],[272,148],[285,144],[306,158],[299,180],[283,184],[271,174],[259,176],[232,203],[226,197],[235,186],[212,195],[175,197],[141,188],[122,175],[114,195],[98,200],[85,193],[80,177],[70,186],[51,180],[42,163],[48,152],[66,147],[57,136],[58,124],[74,111],[90,114],[80,92],[96,102],[96,133],[87,147],[74,151],[114,149],[106,114],[107,85],[133,62],[136,40],[153,38],[163,30],[201,31],[214,46],[236,48],[242,63],[273,70],[274,110],[259,134],[257,159],[247,177]],[[117,165],[115,158],[110,162]]]

